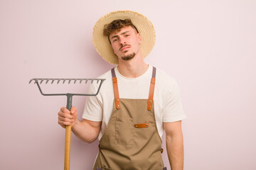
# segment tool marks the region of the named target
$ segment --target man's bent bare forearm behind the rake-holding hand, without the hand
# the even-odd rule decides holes
[[[85,142],[91,143],[94,142],[98,135],[99,130],[85,120],[75,120],[75,124],[72,127],[72,132],[80,138],[80,140],[83,140]]]

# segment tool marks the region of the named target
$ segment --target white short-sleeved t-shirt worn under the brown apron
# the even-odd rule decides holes
[[[137,78],[127,78],[118,72],[117,67],[114,72],[117,76],[119,98],[149,98],[149,86],[152,77],[153,67],[149,66],[142,76]],[[111,70],[102,74],[98,79],[106,79],[102,84],[97,96],[88,97],[85,102],[85,111],[82,118],[96,122],[102,121],[99,140],[107,128],[107,123],[113,110],[114,90],[112,84]],[[91,94],[95,94],[99,84],[90,86]],[[175,122],[186,118],[181,105],[179,88],[176,81],[169,77],[161,69],[156,68],[156,84],[154,89],[154,113],[156,116],[156,125],[160,137],[164,132],[163,123]]]

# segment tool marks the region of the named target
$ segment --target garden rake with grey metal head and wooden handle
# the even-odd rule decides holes
[[[72,97],[73,96],[97,96],[97,94],[100,91],[100,87],[102,86],[103,81],[105,81],[105,79],[42,79],[42,78],[38,78],[38,79],[31,79],[29,81],[29,84],[31,84],[31,82],[34,81],[34,84],[36,84],[38,86],[39,91],[41,92],[41,94],[43,96],[67,96],[67,108],[70,111],[71,107],[72,107]],[[87,82],[91,82],[91,84],[95,81],[97,81],[97,84],[100,85],[97,89],[97,92],[95,94],[44,94],[40,84],[42,84],[43,82],[45,82],[46,84],[48,84],[50,81],[50,84],[53,84],[54,81],[57,82],[57,84],[59,84],[60,82],[62,82],[63,84],[65,82],[68,82],[68,84],[70,84],[71,82],[73,82],[74,84],[79,81],[79,83],[81,84],[82,81],[85,81],[85,84],[87,84]],[[64,159],[64,170],[69,170],[70,169],[70,137],[71,137],[71,126],[67,125],[65,126],[65,159]]]

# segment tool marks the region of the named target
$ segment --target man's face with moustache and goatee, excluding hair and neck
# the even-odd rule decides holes
[[[142,38],[131,26],[110,34],[110,42],[119,60],[132,60],[140,51]]]

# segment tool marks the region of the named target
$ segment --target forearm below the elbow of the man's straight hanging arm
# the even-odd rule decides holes
[[[171,170],[183,170],[183,135],[173,137],[166,136],[166,149],[169,157]]]

